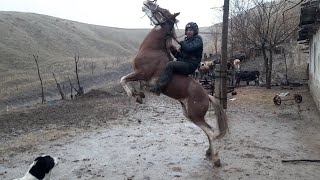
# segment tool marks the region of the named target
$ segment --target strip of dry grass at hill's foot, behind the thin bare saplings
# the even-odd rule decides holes
[[[81,84],[88,90],[89,87],[99,87],[107,81],[119,79],[121,72],[117,72],[119,77],[107,79],[109,73],[113,73],[119,67],[128,66],[132,61],[132,56],[106,57],[106,58],[80,58],[79,76]],[[92,69],[91,65],[94,65]],[[129,67],[129,66],[128,66]],[[58,82],[62,85],[65,93],[70,93],[70,85],[67,77],[70,77],[76,85],[74,70],[74,60],[69,58],[67,62],[53,62],[43,65],[40,63],[41,77],[43,80],[46,99],[59,98],[56,90],[56,83],[52,72],[55,73]],[[126,69],[128,71],[128,68]],[[126,72],[123,72],[124,74]],[[100,77],[99,77],[100,76]],[[92,78],[92,80],[90,80]],[[104,78],[104,79],[103,79]],[[39,99],[41,89],[38,79],[37,69],[34,67],[29,71],[15,70],[1,77],[0,107],[1,111],[14,109],[21,104],[28,104],[30,101]]]

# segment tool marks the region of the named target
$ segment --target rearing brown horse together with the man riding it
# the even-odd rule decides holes
[[[206,155],[214,165],[220,166],[214,141],[227,133],[228,118],[219,102],[208,95],[198,81],[187,76],[197,69],[202,56],[203,43],[198,35],[198,26],[196,23],[187,24],[186,39],[179,42],[181,48],[178,51],[173,47],[172,41],[176,38],[174,25],[180,13],[170,13],[156,4],[155,0],[144,1],[142,10],[156,26],[144,38],[133,59],[134,71],[123,76],[120,83],[127,95],[136,98],[138,103],[143,102],[145,95],[129,82],[144,81],[148,86],[154,87],[154,92],[162,90],[164,95],[179,101],[183,115],[206,133],[209,140]],[[172,61],[170,51],[177,61]],[[205,121],[209,105],[215,111],[217,128]]]

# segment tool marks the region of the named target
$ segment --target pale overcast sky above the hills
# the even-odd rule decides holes
[[[221,22],[223,0],[158,0],[171,13],[180,12],[178,28],[188,22],[200,27]],[[0,11],[50,15],[89,24],[120,28],[152,28],[142,12],[143,0],[0,0]]]

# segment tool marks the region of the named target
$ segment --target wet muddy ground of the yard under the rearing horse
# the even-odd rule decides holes
[[[208,142],[180,104],[147,94],[144,104],[119,85],[76,100],[2,113],[0,179],[22,177],[40,154],[60,158],[52,179],[319,179],[320,114],[306,87],[240,87],[229,95],[230,133],[217,141],[222,167],[205,158]],[[273,103],[279,92],[302,103]],[[233,98],[233,99],[231,99]],[[214,122],[214,113],[207,119]]]

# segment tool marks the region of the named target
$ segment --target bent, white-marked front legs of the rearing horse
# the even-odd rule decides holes
[[[142,104],[142,98],[145,98],[144,93],[137,92],[137,90],[134,87],[128,84],[128,82],[130,81],[139,81],[139,80],[142,80],[142,76],[137,72],[133,72],[131,74],[123,76],[120,80],[120,83],[129,97],[136,98],[136,102]]]

